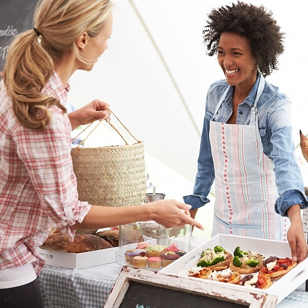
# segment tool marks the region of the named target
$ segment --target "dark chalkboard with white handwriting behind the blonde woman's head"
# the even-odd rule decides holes
[[[12,38],[33,27],[37,0],[0,0],[0,79]]]

